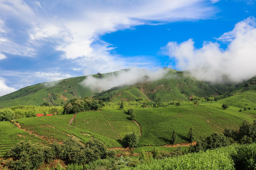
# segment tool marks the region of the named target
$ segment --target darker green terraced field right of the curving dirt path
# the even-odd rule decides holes
[[[238,129],[243,120],[252,122],[255,117],[216,106],[184,106],[135,110],[136,121],[141,125],[139,145],[165,145],[170,143],[173,129],[176,142],[187,142],[190,127],[196,139],[214,132],[222,133],[225,128]]]

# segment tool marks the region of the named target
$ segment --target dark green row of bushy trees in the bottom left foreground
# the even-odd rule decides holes
[[[107,150],[105,144],[92,139],[85,145],[69,137],[63,144],[54,143],[51,146],[38,147],[37,145],[20,142],[7,153],[12,158],[9,167],[12,170],[38,169],[44,162],[61,159],[67,164],[86,164],[99,159],[115,156],[115,152]]]

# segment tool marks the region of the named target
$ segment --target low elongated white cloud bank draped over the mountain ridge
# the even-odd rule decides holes
[[[104,75],[103,78],[95,78],[87,76],[81,82],[84,87],[89,87],[91,90],[101,92],[116,86],[135,85],[142,81],[154,81],[161,79],[167,73],[167,69],[158,71],[150,71],[146,69],[131,68],[129,70],[121,70],[112,74]]]

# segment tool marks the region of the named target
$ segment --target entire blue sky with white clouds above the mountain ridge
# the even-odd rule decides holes
[[[256,0],[0,0],[0,96],[164,67],[212,82],[255,76]]]

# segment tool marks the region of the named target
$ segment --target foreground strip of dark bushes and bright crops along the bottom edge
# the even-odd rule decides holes
[[[68,139],[63,145],[38,148],[29,143],[19,143],[9,151],[14,161],[6,163],[12,170],[41,169],[43,162],[59,158],[69,163],[66,168],[58,164],[51,170],[254,170],[256,168],[256,144],[233,144],[199,153],[182,156],[155,157],[159,153],[141,152],[138,157],[114,158],[114,152],[106,150],[99,141],[85,146]],[[102,158],[102,159],[99,159]],[[85,163],[90,162],[89,164]],[[46,167],[47,169],[47,167]]]

